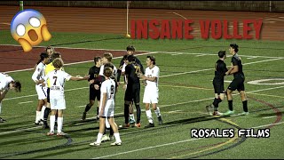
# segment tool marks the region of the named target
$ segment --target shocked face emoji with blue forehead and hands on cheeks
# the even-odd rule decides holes
[[[43,14],[31,9],[18,12],[13,17],[11,34],[23,47],[24,52],[31,51],[32,46],[40,44],[43,40],[51,39]]]

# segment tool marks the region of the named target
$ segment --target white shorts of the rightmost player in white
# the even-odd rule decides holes
[[[146,87],[144,96],[143,96],[143,103],[158,103],[159,102],[159,89],[158,88],[150,88]]]

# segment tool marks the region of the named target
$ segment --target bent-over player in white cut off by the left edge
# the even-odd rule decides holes
[[[16,92],[20,92],[21,84],[19,81],[14,81],[11,76],[6,75],[4,73],[0,73],[0,114],[1,114],[1,107],[2,107],[2,100],[6,93],[9,90],[15,90]],[[0,123],[4,123],[5,120],[0,117]]]

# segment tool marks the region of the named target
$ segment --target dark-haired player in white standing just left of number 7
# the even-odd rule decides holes
[[[39,80],[45,76],[45,65],[49,63],[49,55],[46,52],[42,52],[40,55],[41,62],[36,66],[36,70],[32,76],[32,79],[36,83],[36,92],[38,96],[38,103],[36,108],[36,121],[35,124],[43,124],[44,109],[47,103],[47,87],[45,84],[40,84]]]

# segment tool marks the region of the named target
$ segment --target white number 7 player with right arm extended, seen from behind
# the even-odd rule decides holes
[[[58,119],[57,119],[57,135],[65,135],[62,132],[63,126],[63,110],[66,108],[65,95],[64,95],[64,84],[65,81],[74,80],[87,80],[89,76],[70,76],[65,71],[60,70],[63,67],[63,60],[57,58],[52,62],[54,70],[44,76],[43,81],[50,80],[51,91],[50,91],[50,103],[51,103],[51,116],[50,116],[50,127],[51,131],[47,135],[54,135],[54,124],[55,124],[55,113],[58,110]],[[42,83],[43,83],[42,81]]]

